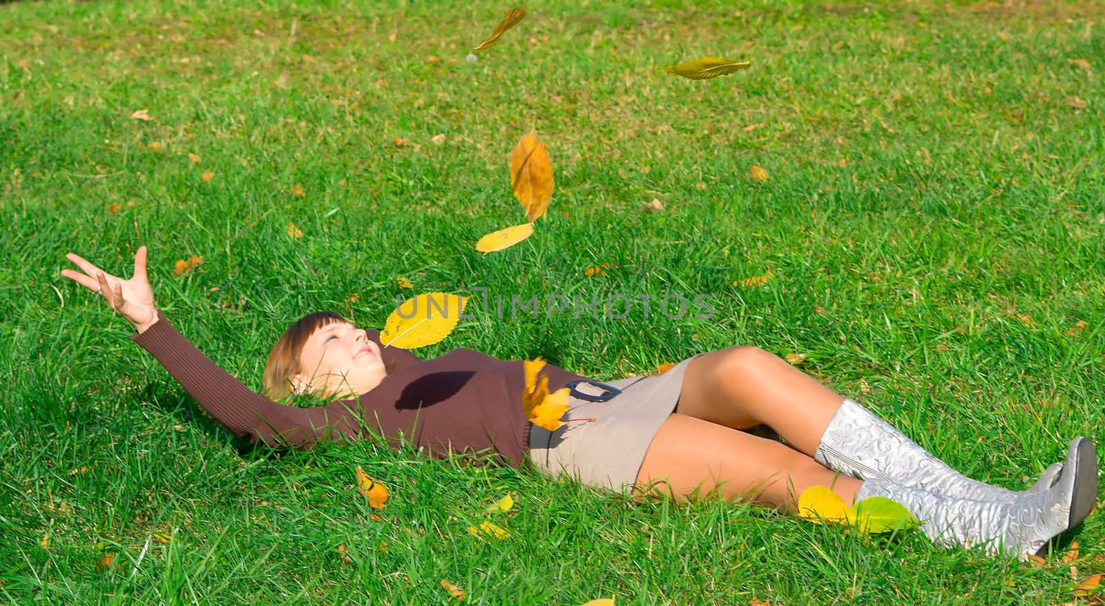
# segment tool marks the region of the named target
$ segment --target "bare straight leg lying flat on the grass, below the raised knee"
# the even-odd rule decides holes
[[[797,510],[803,490],[817,485],[830,487],[851,507],[863,483],[778,442],[677,413],[649,445],[636,481],[642,491],[652,485],[687,497],[716,489],[726,499],[788,512]]]

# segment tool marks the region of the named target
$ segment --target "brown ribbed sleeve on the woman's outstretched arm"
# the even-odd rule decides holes
[[[235,435],[249,437],[253,443],[295,447],[361,435],[356,400],[338,400],[312,408],[273,402],[203,355],[169,323],[160,309],[157,318],[146,332],[135,331],[130,339],[152,354],[203,410]]]

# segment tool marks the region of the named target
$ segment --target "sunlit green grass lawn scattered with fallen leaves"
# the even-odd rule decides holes
[[[372,442],[242,448],[60,275],[71,251],[129,275],[149,245],[159,307],[254,390],[291,321],[381,326],[411,293],[399,276],[507,298],[709,294],[713,319],[481,312],[418,353],[614,379],[756,344],[809,354],[803,370],[977,479],[1022,488],[1076,435],[1105,448],[1105,4],[529,4],[476,64],[507,4],[0,6],[0,599],[445,604],[448,578],[496,605],[1071,600],[1061,554],[1038,568],[916,532],[625,502]],[[660,72],[707,54],[753,67]],[[481,235],[524,221],[506,158],[530,128],[552,203],[484,256]],[[667,210],[638,211],[654,198]],[[356,465],[391,488],[383,521]],[[509,490],[512,536],[470,536]],[[1105,568],[1103,538],[1091,517],[1080,575]]]

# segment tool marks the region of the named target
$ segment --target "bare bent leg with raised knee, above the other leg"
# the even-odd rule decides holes
[[[676,412],[726,427],[767,424],[813,456],[844,396],[778,355],[751,345],[712,351],[687,364]]]

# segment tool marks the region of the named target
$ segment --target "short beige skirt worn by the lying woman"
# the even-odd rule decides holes
[[[687,364],[699,355],[683,360],[663,374],[603,381],[622,391],[606,402],[568,396],[568,412],[561,419],[593,417],[596,421],[567,423],[554,432],[534,425],[529,434],[529,459],[549,477],[566,475],[585,486],[618,492],[631,490],[652,438],[675,412]],[[591,395],[606,393],[588,383],[575,389]]]

